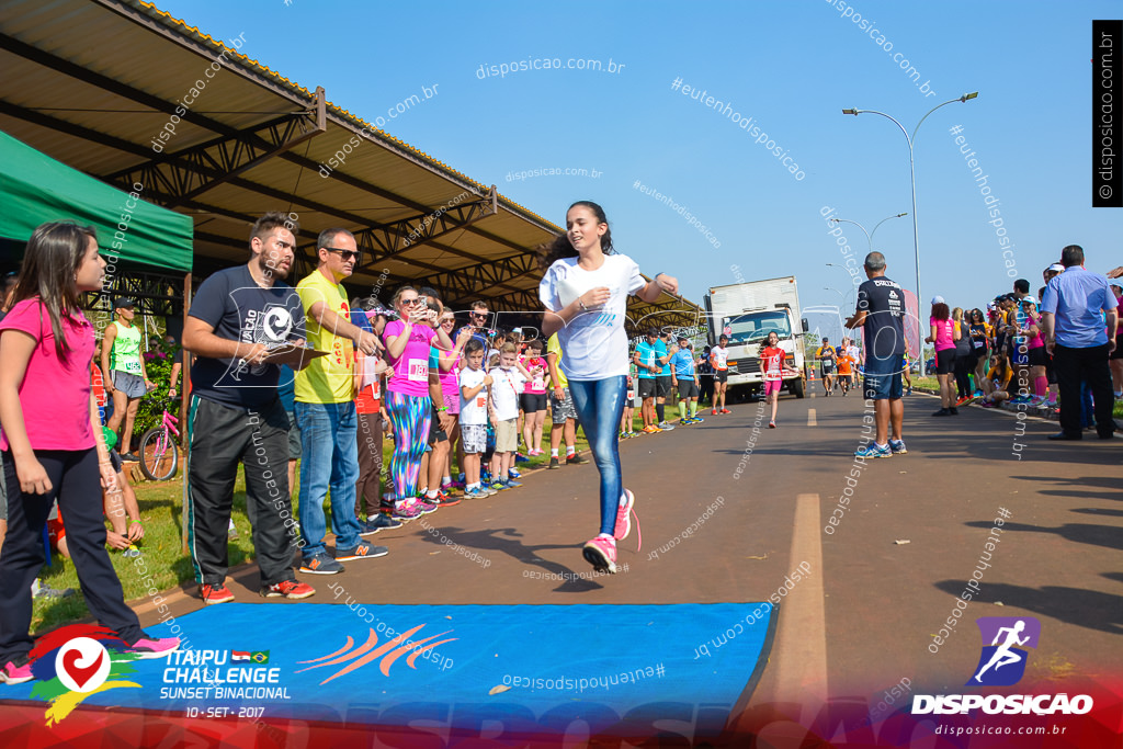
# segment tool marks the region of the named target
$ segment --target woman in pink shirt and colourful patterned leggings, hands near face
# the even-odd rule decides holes
[[[430,310],[413,286],[402,286],[394,294],[398,320],[386,323],[382,338],[386,362],[394,376],[386,384],[386,413],[394,426],[394,455],[390,476],[394,483],[394,517],[412,520],[422,514],[417,501],[418,475],[432,421],[429,398],[429,349],[437,339],[444,350],[453,341],[433,326],[436,310]]]

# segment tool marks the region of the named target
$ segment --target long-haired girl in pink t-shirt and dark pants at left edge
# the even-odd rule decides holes
[[[180,647],[177,638],[154,639],[140,629],[106,551],[101,488],[115,506],[122,500],[91,393],[93,327],[79,307],[80,294],[101,290],[104,268],[92,228],[39,226],[27,243],[11,310],[0,321],[0,450],[8,487],[0,681],[8,684],[33,678],[31,583],[45,560],[43,529],[55,501],[66,515],[90,612],[141,658]]]

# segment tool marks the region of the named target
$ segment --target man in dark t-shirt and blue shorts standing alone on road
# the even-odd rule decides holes
[[[847,328],[862,327],[866,339],[866,400],[874,401],[877,424],[875,440],[859,447],[861,458],[888,458],[904,455],[901,428],[905,417],[901,400],[901,372],[905,354],[905,293],[901,284],[885,277],[885,256],[866,256],[866,277],[858,286],[858,309],[846,321]],[[892,422],[893,436],[889,437]]]

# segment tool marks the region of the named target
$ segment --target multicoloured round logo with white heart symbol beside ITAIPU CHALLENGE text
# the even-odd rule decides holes
[[[118,681],[136,672],[131,663],[139,658],[125,652],[126,647],[112,630],[92,624],[71,624],[40,638],[29,654],[36,678],[31,696],[49,703],[46,724],[62,721],[91,694],[140,688],[134,682]]]

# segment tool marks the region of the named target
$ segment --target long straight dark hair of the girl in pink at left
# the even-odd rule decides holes
[[[40,223],[27,240],[24,266],[12,292],[12,307],[25,299],[39,298],[51,318],[55,353],[61,359],[71,351],[63,334],[63,316],[79,311],[74,276],[90,237],[98,241],[98,232],[91,226],[74,221]]]

